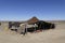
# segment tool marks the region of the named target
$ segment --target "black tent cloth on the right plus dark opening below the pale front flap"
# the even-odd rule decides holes
[[[55,28],[54,24],[47,23],[47,22],[43,22],[43,20],[39,20],[35,24],[37,24],[38,27],[28,28],[27,31],[29,31],[29,32],[35,31],[35,28],[36,28],[36,30],[48,30],[48,29],[54,29]]]

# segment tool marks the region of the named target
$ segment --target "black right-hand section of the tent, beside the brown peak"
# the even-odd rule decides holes
[[[47,29],[54,29],[55,28],[54,24],[47,23],[43,20],[39,20],[36,24],[38,25],[38,29],[47,30]]]

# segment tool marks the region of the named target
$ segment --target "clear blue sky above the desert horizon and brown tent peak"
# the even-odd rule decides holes
[[[0,0],[0,20],[65,19],[65,0]]]

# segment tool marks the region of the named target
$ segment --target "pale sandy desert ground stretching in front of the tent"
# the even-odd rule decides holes
[[[14,31],[0,30],[0,43],[65,43],[65,24],[55,29],[21,35]]]

